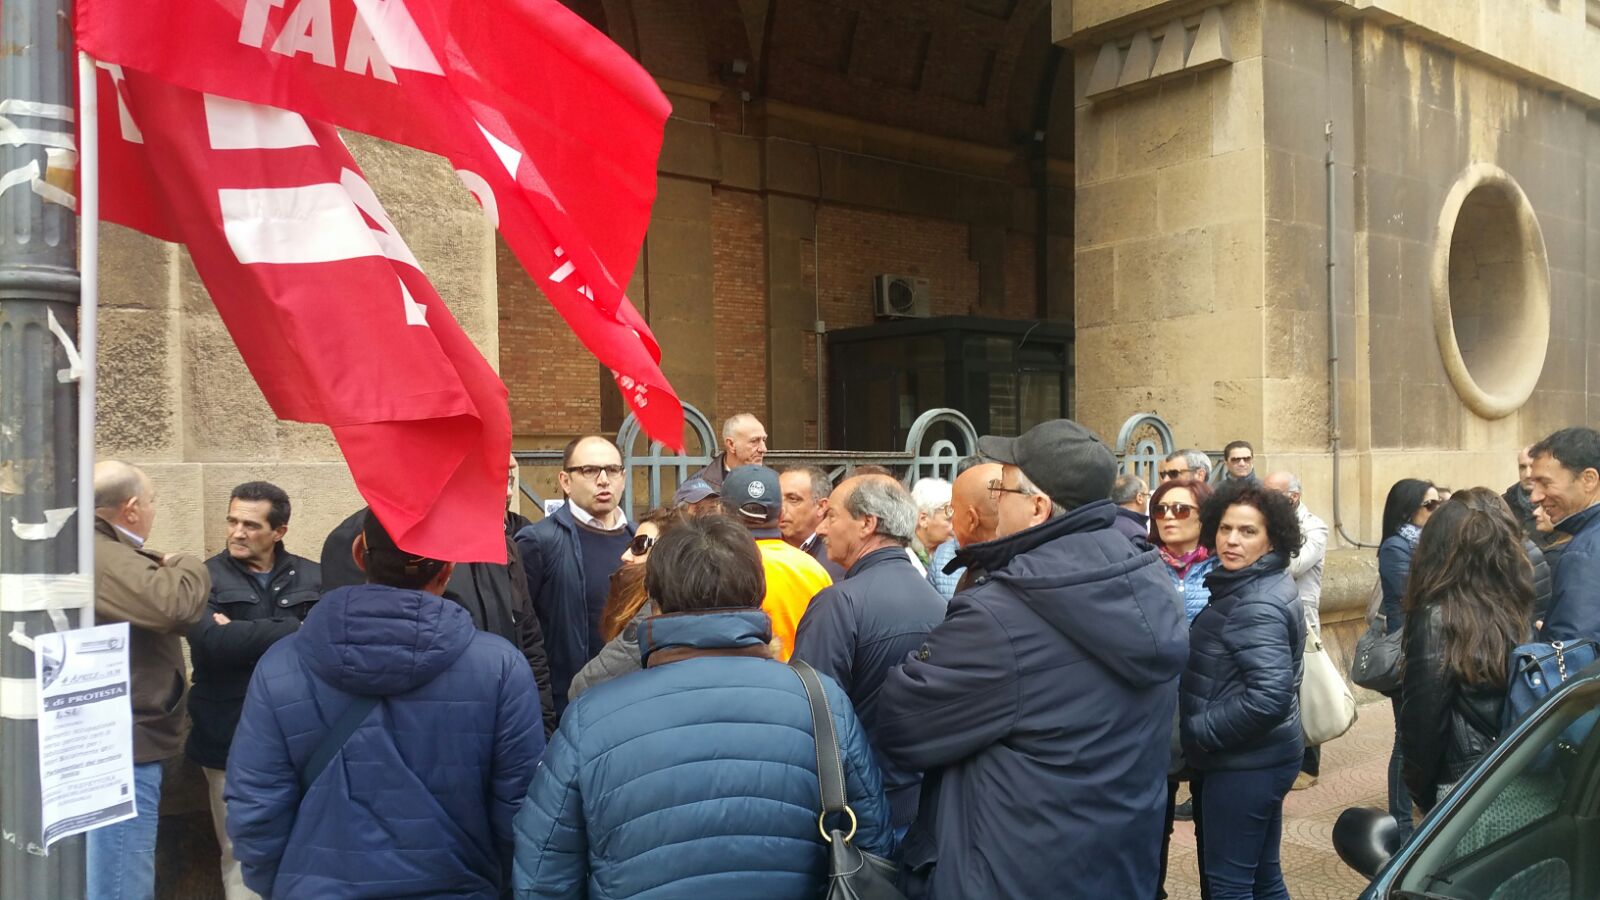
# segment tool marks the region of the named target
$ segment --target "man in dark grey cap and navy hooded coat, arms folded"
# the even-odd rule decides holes
[[[1002,463],[997,538],[963,551],[984,575],[878,698],[878,751],[926,777],[907,894],[1154,897],[1182,605],[1114,528],[1094,432],[1054,420],[978,450]]]

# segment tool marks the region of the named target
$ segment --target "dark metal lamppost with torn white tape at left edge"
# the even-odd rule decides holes
[[[0,5],[0,900],[83,897],[83,838],[43,849],[34,653],[61,618],[24,580],[78,569],[70,0]],[[51,511],[53,516],[46,516]],[[8,586],[10,581],[10,586]],[[37,604],[35,604],[37,605]],[[21,637],[14,637],[21,636]]]

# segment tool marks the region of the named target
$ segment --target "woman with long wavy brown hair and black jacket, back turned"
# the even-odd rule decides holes
[[[1422,528],[1405,593],[1395,727],[1405,783],[1424,814],[1499,737],[1506,660],[1533,634],[1533,569],[1522,530],[1509,511],[1474,508],[1477,498],[1467,493],[1440,506]]]

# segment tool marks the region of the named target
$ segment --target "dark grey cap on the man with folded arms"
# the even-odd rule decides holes
[[[1042,421],[1018,437],[986,434],[978,452],[1022,469],[1027,480],[1064,509],[1110,498],[1117,458],[1098,434],[1069,420]]]

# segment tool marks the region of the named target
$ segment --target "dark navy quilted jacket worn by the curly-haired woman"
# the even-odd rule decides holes
[[[1288,564],[1269,552],[1206,578],[1179,690],[1184,759],[1202,770],[1270,769],[1304,753],[1299,682],[1306,613]]]

